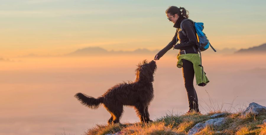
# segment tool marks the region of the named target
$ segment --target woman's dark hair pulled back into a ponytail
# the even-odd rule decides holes
[[[182,10],[182,12],[181,12]],[[176,6],[170,6],[168,7],[168,9],[166,9],[165,11],[166,14],[170,13],[171,15],[175,15],[178,14],[179,17],[184,17],[184,18],[188,18],[189,17],[189,12],[184,8],[184,7],[176,7]]]

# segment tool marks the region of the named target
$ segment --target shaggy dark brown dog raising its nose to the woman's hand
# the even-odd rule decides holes
[[[123,113],[123,105],[132,106],[136,110],[140,121],[150,122],[148,107],[153,100],[153,80],[157,69],[155,61],[147,62],[143,60],[139,63],[136,71],[136,80],[134,82],[119,83],[108,89],[102,96],[95,99],[82,93],[75,94],[82,105],[91,109],[97,109],[103,104],[111,118],[108,124],[119,123]]]

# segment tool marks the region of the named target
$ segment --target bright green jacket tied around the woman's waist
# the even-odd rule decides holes
[[[198,86],[205,86],[208,82],[210,82],[205,75],[206,73],[202,73],[202,67],[200,66],[200,54],[178,54],[177,55],[177,64],[178,68],[182,68],[183,62],[182,59],[189,60],[193,63],[193,68],[196,76],[196,82]]]

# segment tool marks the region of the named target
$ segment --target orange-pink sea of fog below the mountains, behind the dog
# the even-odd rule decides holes
[[[35,57],[0,62],[0,134],[61,134],[63,128],[66,134],[82,134],[84,129],[96,123],[106,123],[110,114],[104,107],[98,110],[84,107],[74,94],[83,92],[98,97],[116,83],[134,81],[136,65],[153,57],[153,54]],[[232,111],[249,102],[265,106],[265,94],[262,94],[266,87],[265,54],[205,53],[202,58],[204,71],[210,80],[207,86],[200,87],[194,79],[202,113],[210,109],[206,91],[215,105],[221,107],[226,103],[224,109],[227,110],[235,98]],[[188,110],[182,69],[176,67],[176,62],[173,53],[167,53],[156,61],[155,98],[149,109],[152,119],[172,110],[173,114]],[[121,122],[136,121],[139,119],[134,109],[125,107]]]

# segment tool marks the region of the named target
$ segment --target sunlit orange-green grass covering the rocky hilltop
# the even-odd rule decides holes
[[[215,104],[209,96],[209,103],[202,101],[207,105],[203,109],[205,110],[204,114],[192,112],[189,114],[173,115],[170,113],[156,118],[152,123],[97,124],[95,127],[88,129],[84,135],[115,134],[119,131],[121,131],[119,135],[184,135],[188,134],[189,129],[197,123],[204,123],[206,120],[212,119],[210,116],[215,113],[224,113],[220,117],[226,117],[225,124],[220,127],[206,126],[197,135],[266,135],[266,124],[262,124],[262,121],[266,119],[266,111],[259,113],[259,115],[241,115],[246,106],[238,104],[239,108],[236,109],[236,106],[233,106],[234,100],[235,98],[230,103],[230,106],[224,109],[224,104],[228,103],[222,103],[222,105]]]

